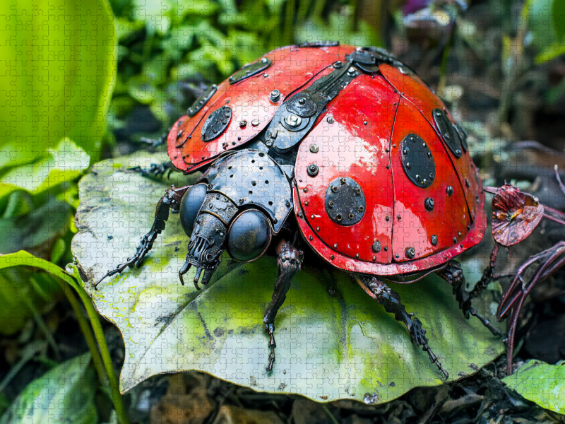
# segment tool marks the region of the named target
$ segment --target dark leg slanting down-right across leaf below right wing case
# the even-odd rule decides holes
[[[383,305],[384,310],[391,314],[394,314],[396,321],[403,322],[410,332],[410,338],[416,344],[416,346],[422,346],[422,351],[427,352],[429,355],[429,360],[434,363],[439,370],[445,375],[446,378],[449,377],[448,372],[441,366],[439,359],[429,348],[428,339],[426,337],[426,330],[422,329],[422,322],[420,319],[414,317],[414,313],[406,312],[404,305],[400,302],[400,295],[396,291],[392,290],[388,285],[382,281],[377,280],[375,277],[369,276],[354,276],[355,280],[363,290],[371,296],[374,300]]]

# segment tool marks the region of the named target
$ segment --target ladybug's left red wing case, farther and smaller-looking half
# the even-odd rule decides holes
[[[316,49],[290,46],[269,52],[265,57],[273,64],[268,69],[268,76],[258,73],[233,85],[223,81],[199,112],[193,117],[185,115],[179,118],[172,126],[167,139],[172,163],[179,170],[192,172],[221,153],[242,146],[266,128],[288,95],[320,76],[319,73],[323,75],[331,71],[327,70],[330,64],[343,60],[354,50],[355,47],[351,46]],[[280,92],[276,102],[270,99],[273,90]],[[224,105],[231,108],[232,121],[218,138],[205,143],[201,139],[201,126],[213,110]],[[243,121],[246,124],[240,126]],[[179,125],[179,122],[182,124]],[[180,131],[182,136],[177,138]]]

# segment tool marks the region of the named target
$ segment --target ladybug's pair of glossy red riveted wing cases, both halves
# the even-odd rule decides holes
[[[173,126],[168,138],[173,164],[192,172],[241,148],[266,128],[286,98],[330,73],[331,64],[354,51],[351,46],[284,47],[266,54],[273,60],[268,69],[233,85],[225,81],[200,112]],[[277,102],[269,99],[272,90],[280,90]],[[203,122],[223,105],[233,111],[227,129],[203,142]],[[328,263],[393,276],[432,269],[482,240],[486,215],[477,168],[466,149],[457,158],[448,148],[434,109],[444,110],[453,122],[420,78],[380,64],[378,73],[359,75],[343,88],[300,141],[294,210],[304,239]],[[180,130],[182,137],[177,137]],[[436,172],[429,187],[411,182],[403,168],[400,146],[408,134],[424,139],[433,154]],[[315,176],[308,173],[310,165],[317,166]],[[354,225],[335,223],[326,211],[326,191],[341,177],[355,180],[367,201]],[[424,207],[427,198],[434,199],[432,211]]]

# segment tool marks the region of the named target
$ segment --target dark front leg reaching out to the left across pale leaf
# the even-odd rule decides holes
[[[157,238],[157,235],[165,230],[165,223],[167,219],[169,219],[169,211],[172,209],[173,212],[178,212],[181,204],[181,199],[186,190],[188,190],[191,186],[185,186],[180,188],[175,188],[172,186],[170,189],[167,189],[165,194],[161,197],[159,202],[157,203],[157,207],[155,208],[155,219],[153,220],[153,225],[147,234],[145,234],[141,238],[141,242],[139,243],[136,254],[133,257],[129,258],[123,264],[119,264],[116,268],[108,271],[105,273],[100,280],[98,280],[94,288],[97,290],[98,284],[102,282],[106,277],[113,276],[114,274],[121,273],[126,269],[128,266],[134,265],[136,267],[141,265],[143,258],[146,254],[151,250],[153,247],[153,242]]]

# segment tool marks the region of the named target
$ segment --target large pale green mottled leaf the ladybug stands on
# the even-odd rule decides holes
[[[79,187],[73,254],[89,278],[85,290],[97,310],[124,337],[121,390],[177,370],[203,370],[257,390],[298,393],[318,401],[384,402],[412,387],[443,382],[403,324],[346,273],[314,266],[310,259],[278,314],[277,359],[273,372],[267,373],[262,318],[277,275],[275,258],[238,265],[224,257],[206,290],[182,287],[177,271],[188,239],[176,215],[170,216],[141,268],[107,278],[99,291],[93,290],[96,278],[135,252],[165,189],[191,181],[179,175],[174,181],[156,182],[126,170],[163,159],[140,154],[98,163]],[[312,254],[307,258],[313,259]],[[480,276],[477,264],[471,268],[472,278]],[[428,329],[430,345],[451,380],[475,372],[502,351],[500,339],[479,322],[463,318],[451,287],[439,277],[393,288]],[[477,306],[484,310],[487,304]]]

